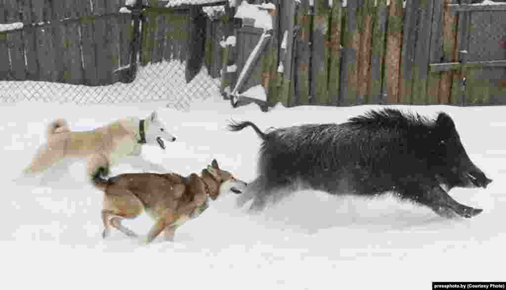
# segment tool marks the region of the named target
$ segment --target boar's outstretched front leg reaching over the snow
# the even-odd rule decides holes
[[[452,213],[455,213],[459,216],[470,218],[483,211],[482,209],[475,209],[459,204],[439,185],[427,190],[423,197],[420,197],[417,201],[429,206],[437,214],[446,217],[450,217]]]

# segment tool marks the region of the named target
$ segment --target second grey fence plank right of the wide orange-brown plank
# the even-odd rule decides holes
[[[439,1],[439,0],[438,0]],[[431,27],[434,0],[420,1],[418,8],[418,25],[416,47],[413,61],[413,90],[411,102],[413,104],[427,104],[427,84],[429,72],[428,45],[431,43]]]

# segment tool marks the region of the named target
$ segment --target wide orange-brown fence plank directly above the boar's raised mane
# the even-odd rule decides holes
[[[396,104],[400,99],[400,60],[403,40],[403,0],[391,0],[388,9],[387,52],[383,87],[387,92],[387,102]]]

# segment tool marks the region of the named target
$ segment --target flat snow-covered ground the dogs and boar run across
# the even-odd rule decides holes
[[[251,181],[260,139],[251,129],[229,132],[229,119],[260,128],[344,122],[379,106],[232,109],[220,96],[186,111],[164,102],[77,106],[24,102],[0,107],[0,272],[5,289],[430,289],[431,281],[504,280],[506,182],[504,107],[401,107],[455,120],[470,158],[494,180],[487,189],[454,189],[459,202],[483,208],[473,219],[444,219],[391,196],[375,200],[303,191],[259,215],[235,208],[226,196],[182,226],[174,243],[142,245],[120,232],[102,239],[101,192],[76,163],[58,186],[13,182],[44,142],[45,126],[67,118],[75,130],[158,110],[178,137],[166,151],[143,155],[181,173],[200,171],[216,158],[221,167]],[[405,164],[409,166],[409,164]],[[112,174],[135,172],[126,165]],[[125,221],[140,234],[152,221]]]

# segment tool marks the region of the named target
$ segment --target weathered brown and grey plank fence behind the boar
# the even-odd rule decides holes
[[[489,35],[497,40],[495,45],[488,41],[488,46],[480,46],[480,41],[474,41],[475,47],[462,46],[470,37],[480,39],[477,36],[480,31],[475,29],[472,34],[470,29],[463,28],[471,27],[470,22],[465,22],[471,20],[463,20],[467,16],[456,13],[456,8],[451,6],[458,4],[458,0],[407,0],[405,6],[403,0],[388,1],[390,5],[387,0],[354,0],[348,1],[347,7],[342,7],[341,0],[315,0],[314,6],[309,5],[309,0],[301,0],[300,4],[292,0],[271,2],[276,6],[276,15],[269,47],[260,56],[256,68],[251,69],[254,77],[247,79],[238,91],[240,95],[251,86],[263,84],[270,104],[462,105],[462,93],[473,91],[477,77],[473,78],[474,82],[468,80],[463,89],[466,75],[455,70],[459,67],[455,63],[463,61],[459,59],[459,51],[465,47],[493,51],[495,58],[506,59],[506,50],[499,45],[500,39],[506,41],[504,29],[492,32],[493,27],[504,27],[503,16],[487,24],[491,30]],[[489,10],[496,13],[506,9],[506,5],[493,6]],[[475,10],[487,11],[487,7]],[[488,20],[480,17],[478,12],[475,15],[473,27],[491,21],[490,17]],[[247,25],[244,21],[242,29]],[[241,33],[239,29],[237,51],[253,51],[255,45],[248,46],[247,40],[239,42]],[[261,33],[259,30],[251,37],[258,39]],[[285,33],[287,47],[283,48],[280,43]],[[242,63],[243,60],[237,61],[239,73]],[[437,70],[431,65],[440,63],[453,63],[452,69]],[[284,67],[282,72],[278,72],[279,64]],[[497,69],[502,64],[484,65],[481,59],[475,64],[479,69],[484,66],[496,69],[494,81],[479,84],[493,86],[487,91],[496,96],[492,98],[494,104],[506,103],[503,100],[506,98],[497,97],[506,94],[506,71]],[[466,104],[492,102],[489,96],[483,96],[487,93],[482,91],[480,98],[467,98]]]

